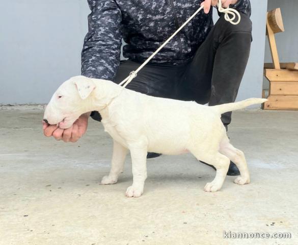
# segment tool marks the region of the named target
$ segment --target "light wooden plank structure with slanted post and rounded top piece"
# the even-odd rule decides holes
[[[298,110],[298,63],[279,62],[274,36],[275,33],[285,31],[280,8],[267,13],[266,26],[273,63],[264,64],[264,76],[269,80],[269,93],[263,109]]]

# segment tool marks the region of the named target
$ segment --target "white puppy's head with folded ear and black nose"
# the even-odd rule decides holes
[[[93,80],[83,76],[64,82],[46,106],[43,120],[61,129],[71,127],[80,115],[89,111],[90,95],[94,89]]]

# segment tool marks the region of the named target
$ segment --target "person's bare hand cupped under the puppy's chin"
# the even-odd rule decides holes
[[[56,125],[49,125],[43,122],[43,133],[47,137],[53,136],[56,140],[64,142],[76,142],[87,131],[90,112],[81,115],[68,129],[60,129]]]

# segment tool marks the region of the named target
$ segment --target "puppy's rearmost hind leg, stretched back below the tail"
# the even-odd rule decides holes
[[[234,148],[229,142],[228,137],[224,137],[220,143],[220,153],[227,156],[232,162],[236,164],[240,171],[240,176],[234,180],[234,183],[238,185],[244,185],[250,183],[250,173],[248,170],[245,155],[240,150]]]

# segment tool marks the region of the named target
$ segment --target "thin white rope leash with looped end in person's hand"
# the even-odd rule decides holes
[[[219,0],[219,3],[218,3],[218,10],[220,13],[224,13],[225,14],[225,20],[230,22],[231,24],[238,24],[240,22],[240,14],[237,10],[235,9],[230,9],[230,8],[223,8],[222,7],[222,0]],[[143,64],[141,64],[139,66],[138,69],[136,70],[133,70],[130,72],[130,75],[125,78],[119,85],[123,85],[123,87],[125,88],[131,81],[132,79],[134,79],[135,77],[137,77],[138,75],[138,72],[150,61],[152,60],[152,58],[161,50],[161,48],[163,48],[164,46],[166,46],[168,44],[169,41],[172,40],[173,37],[175,37],[177,35],[178,32],[180,32],[183,27],[186,26],[186,24],[191,21],[202,9],[204,8],[204,5],[202,5],[191,17],[189,17],[183,24],[181,27],[179,27],[177,29],[176,32],[174,32],[174,34],[172,36],[170,36],[159,48],[157,48],[157,50],[147,59],[145,60],[145,62]],[[229,16],[229,14],[231,15],[231,17]],[[237,21],[234,21],[235,18],[238,17],[238,20]]]

